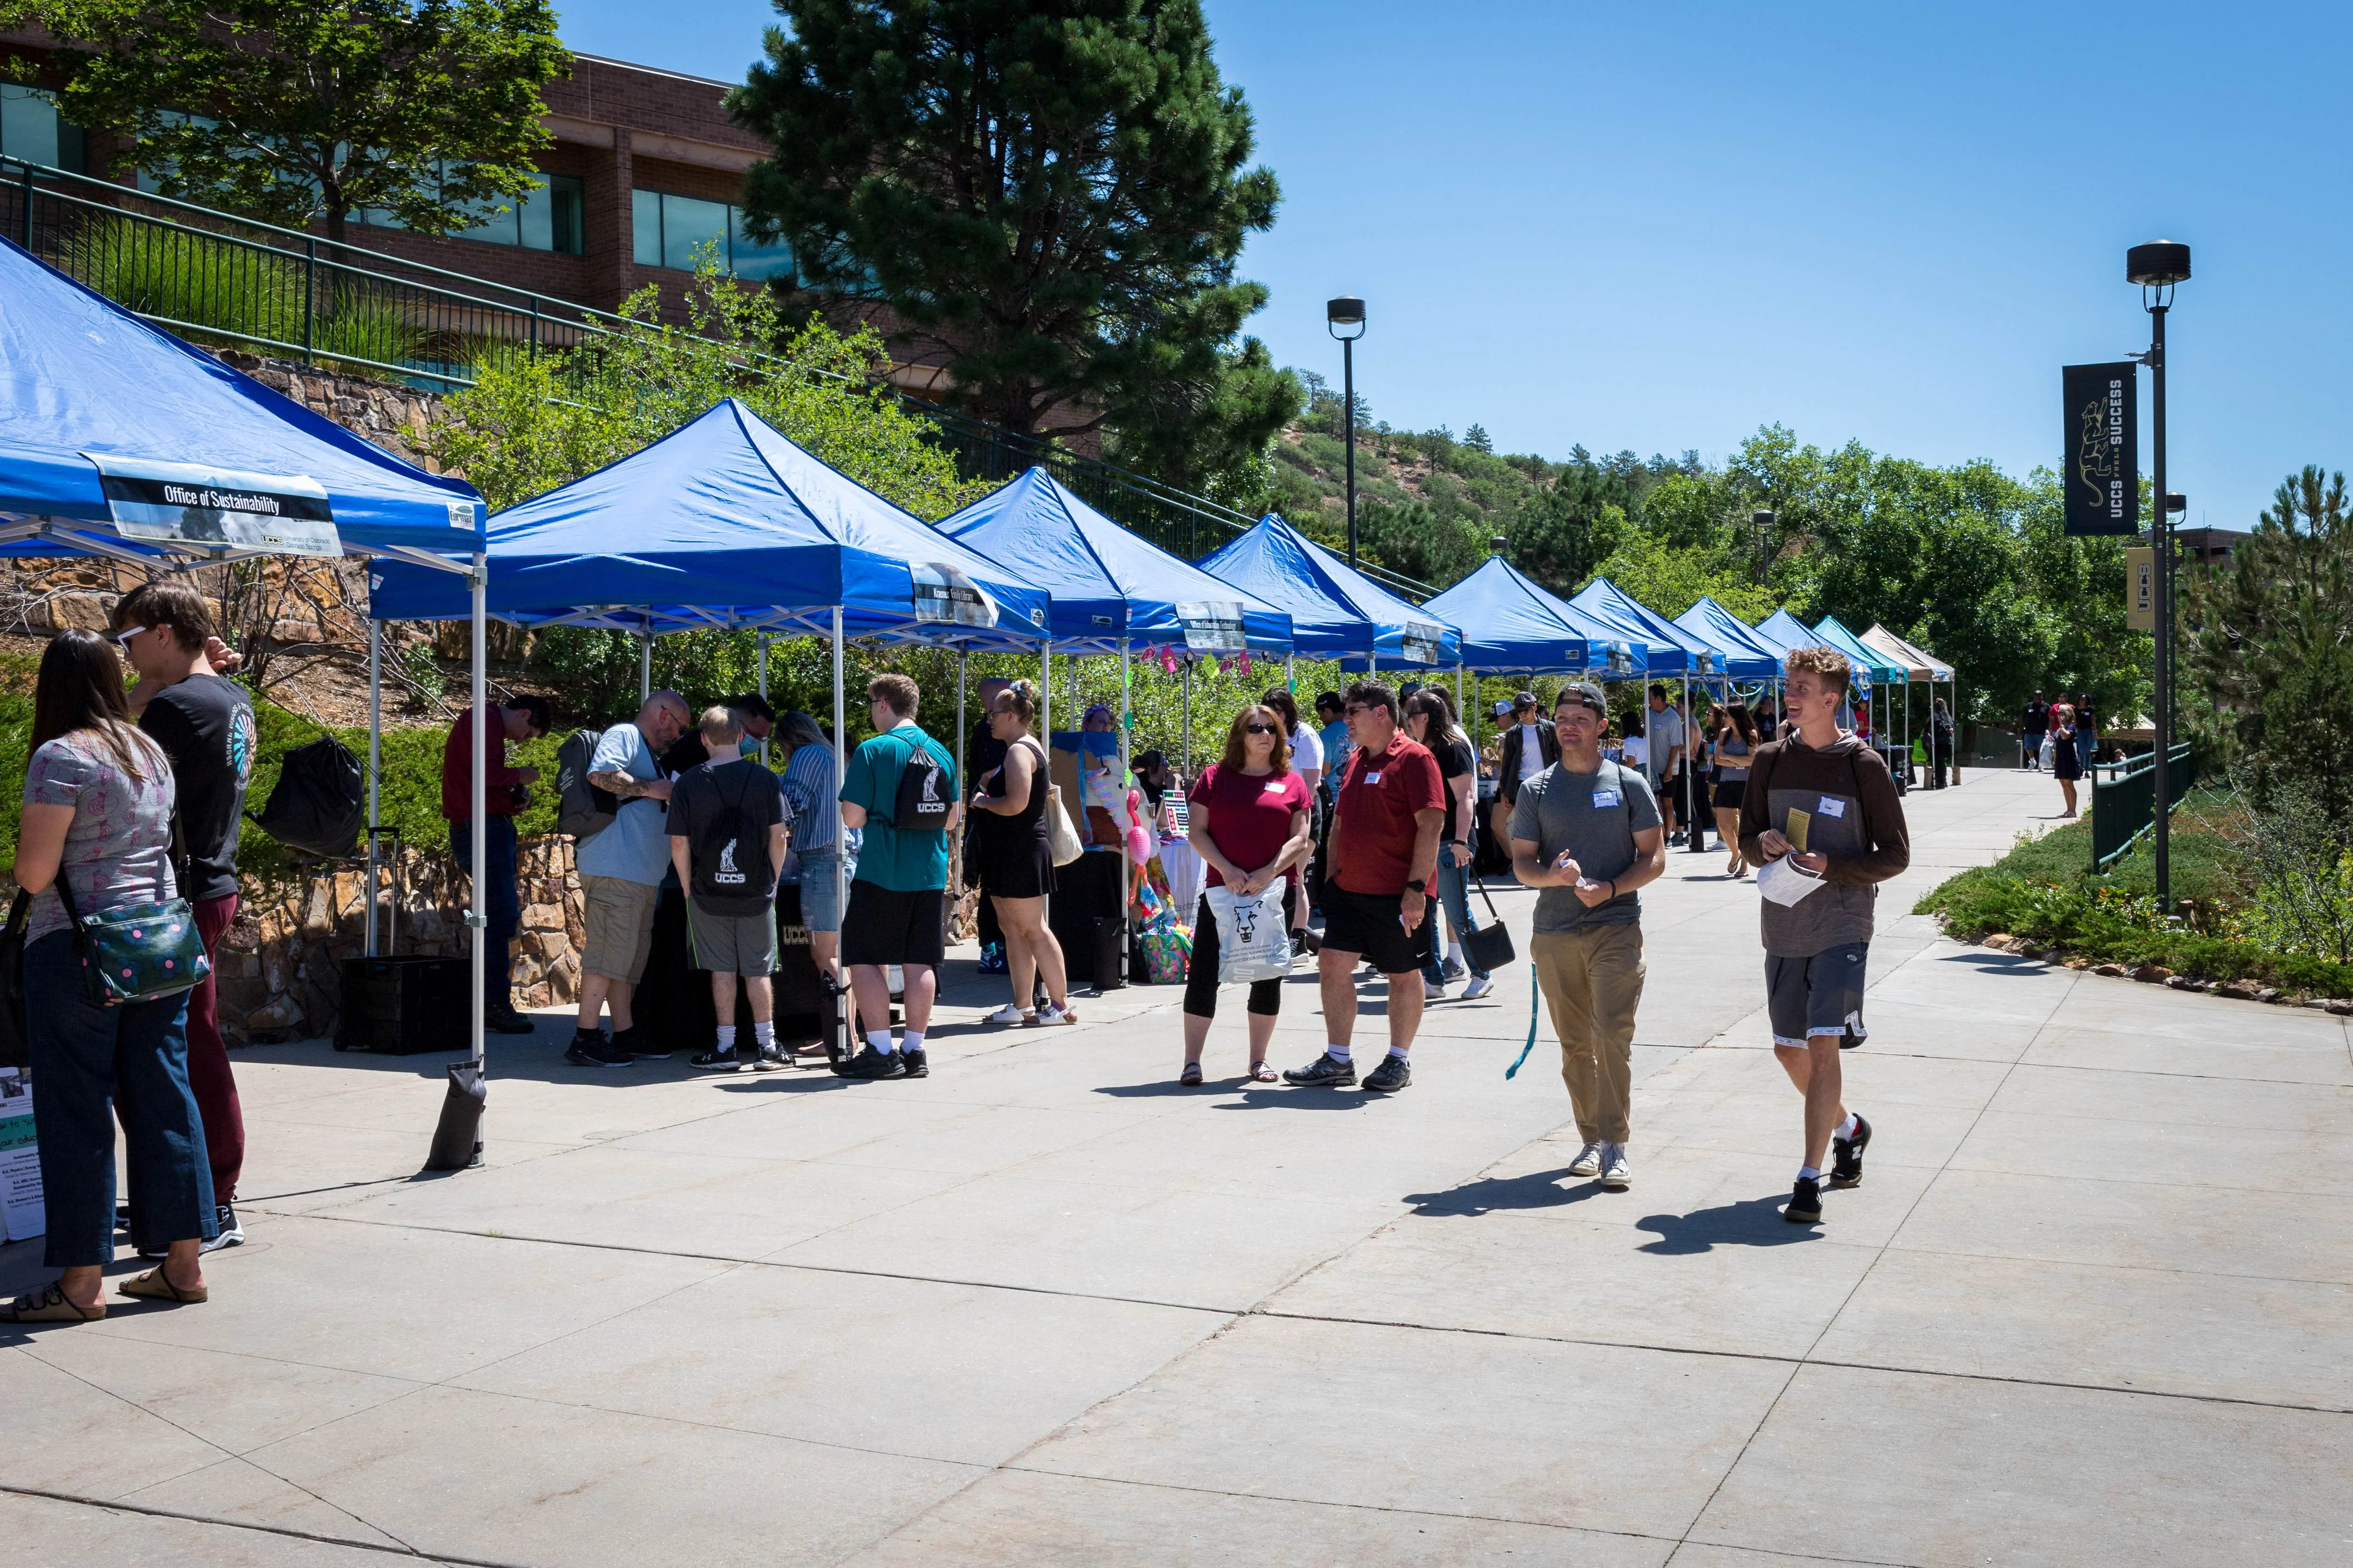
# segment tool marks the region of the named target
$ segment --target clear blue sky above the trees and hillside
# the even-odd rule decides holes
[[[2162,235],[2198,270],[2169,327],[2191,522],[2353,468],[2346,7],[1207,9],[1282,181],[1252,331],[1337,381],[1322,301],[1362,294],[1377,418],[1711,461],[1779,421],[2026,473],[2059,367],[2146,346],[2122,256]],[[562,14],[576,49],[725,80],[772,19]]]

